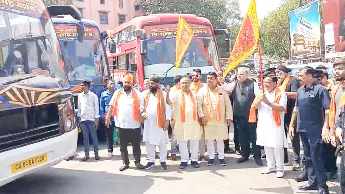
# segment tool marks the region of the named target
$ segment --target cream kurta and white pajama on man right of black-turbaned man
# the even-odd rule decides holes
[[[197,111],[197,95],[195,91],[190,90],[194,97],[194,103],[196,105]],[[198,120],[194,120],[193,113],[193,102],[191,101],[191,97],[187,93],[183,93],[185,97],[185,122],[181,121],[181,99],[182,99],[182,92],[178,90],[175,92],[175,96],[171,98],[172,107],[173,107],[173,115],[175,120],[174,126],[174,139],[178,141],[179,150],[181,154],[181,161],[188,162],[189,161],[189,152],[188,152],[188,141],[189,141],[189,148],[191,154],[191,161],[197,162],[198,161],[198,151],[199,151],[199,139],[203,133],[201,126],[198,123]]]

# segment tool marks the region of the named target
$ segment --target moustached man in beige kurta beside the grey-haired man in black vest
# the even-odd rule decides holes
[[[229,138],[228,125],[233,120],[233,109],[227,92],[217,85],[217,74],[209,72],[206,78],[207,87],[199,89],[197,94],[198,115],[203,122],[208,153],[208,166],[214,165],[215,146],[219,165],[225,166],[224,141]],[[218,97],[217,97],[218,96]]]

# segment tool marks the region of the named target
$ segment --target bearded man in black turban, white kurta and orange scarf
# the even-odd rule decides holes
[[[159,93],[162,93],[164,100],[162,102],[162,113],[157,114],[158,110],[158,97]],[[167,144],[168,138],[168,126],[171,118],[171,108],[166,103],[167,93],[159,88],[159,78],[157,76],[150,77],[150,89],[142,92],[145,98],[145,113],[142,116],[145,118],[144,122],[144,134],[142,141],[146,143],[148,164],[145,169],[150,169],[155,166],[156,158],[156,145],[159,147],[159,162],[162,169],[167,169]],[[162,115],[164,114],[164,115]],[[164,126],[158,126],[158,116],[164,116]]]

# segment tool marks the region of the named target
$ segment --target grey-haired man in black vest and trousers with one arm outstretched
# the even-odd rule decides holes
[[[219,82],[226,91],[234,96],[234,127],[237,128],[241,144],[241,155],[237,163],[243,163],[248,160],[250,148],[249,142],[252,143],[254,158],[257,165],[262,166],[261,150],[256,145],[256,123],[248,123],[249,110],[255,96],[260,93],[258,84],[248,79],[249,68],[240,67],[237,70],[237,80],[230,84],[225,83],[222,78]]]

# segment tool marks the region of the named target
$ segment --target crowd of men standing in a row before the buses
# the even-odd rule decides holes
[[[89,91],[90,82],[82,81],[83,92],[78,96],[86,154],[82,161],[89,159],[90,135],[95,159],[99,159],[95,129],[99,115],[107,127],[107,157],[112,156],[113,132],[117,128],[123,161],[120,171],[129,168],[128,143],[132,145],[137,168],[150,169],[156,165],[158,146],[160,167],[167,169],[169,128],[172,129],[171,153],[180,153],[181,169],[188,166],[188,161],[198,168],[198,161],[206,159],[205,148],[208,166],[215,164],[216,156],[219,165],[225,166],[224,155],[231,153],[228,130],[233,126],[234,152],[241,155],[237,163],[248,161],[253,153],[259,166],[263,165],[262,158],[266,158],[267,167],[262,174],[275,172],[276,177],[283,177],[284,166],[289,163],[289,137],[294,171],[300,169],[300,142],[304,150],[303,171],[295,180],[308,183],[299,186],[299,190],[327,194],[326,181],[338,176],[334,154],[339,144],[337,139],[342,140],[343,136],[340,115],[345,104],[345,59],[336,61],[334,68],[338,84],[328,79],[323,66],[302,68],[297,79],[289,74],[287,67],[278,66],[264,72],[264,88],[260,79],[248,78],[247,67],[238,68],[230,83],[219,76],[221,72],[208,72],[204,84],[200,69],[194,69],[192,74],[176,76],[174,86],[164,88],[159,77],[152,75],[144,81],[142,92],[133,87],[133,77],[126,75],[121,88],[114,89],[114,81],[108,81],[100,107],[97,96]],[[140,163],[141,141],[147,149],[145,166]],[[344,159],[345,154],[341,166]],[[345,193],[344,173],[341,173],[341,185]]]

